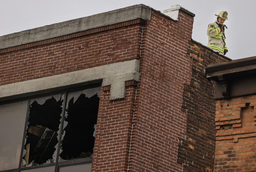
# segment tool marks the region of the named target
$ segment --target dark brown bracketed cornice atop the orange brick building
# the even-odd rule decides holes
[[[214,81],[214,99],[256,94],[256,56],[209,64],[205,72]]]

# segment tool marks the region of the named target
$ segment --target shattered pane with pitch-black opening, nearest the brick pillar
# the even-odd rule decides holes
[[[99,92],[100,87],[68,93],[59,161],[92,157]]]

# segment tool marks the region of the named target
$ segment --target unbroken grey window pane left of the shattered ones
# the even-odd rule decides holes
[[[0,105],[0,171],[19,167],[28,101]]]

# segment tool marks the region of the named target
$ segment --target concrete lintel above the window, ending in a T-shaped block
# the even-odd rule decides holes
[[[0,102],[100,83],[111,85],[110,100],[125,98],[125,82],[139,81],[139,60],[127,60],[0,86]]]

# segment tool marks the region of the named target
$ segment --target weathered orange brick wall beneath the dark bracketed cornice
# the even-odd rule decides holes
[[[217,100],[214,172],[256,171],[256,95]]]

